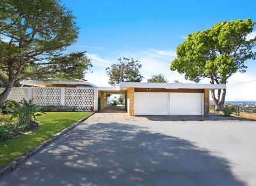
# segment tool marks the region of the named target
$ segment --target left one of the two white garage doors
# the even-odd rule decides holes
[[[135,115],[169,115],[168,92],[134,92]]]

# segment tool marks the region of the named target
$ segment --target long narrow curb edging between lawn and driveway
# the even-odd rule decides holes
[[[20,156],[19,158],[13,160],[13,162],[10,162],[6,166],[2,167],[0,169],[0,177],[3,176],[3,174],[8,173],[9,171],[15,169],[20,163],[24,162],[24,160],[28,159],[30,156],[34,155],[34,153],[40,151],[45,146],[51,144],[54,140],[61,137],[62,135],[66,134],[68,131],[72,130],[74,127],[78,126],[80,123],[82,123],[84,120],[88,119],[88,117],[93,116],[95,112],[91,113],[90,115],[84,117],[83,119],[77,121],[76,123],[72,124],[71,126],[65,128],[61,132],[55,134],[53,137],[49,138],[48,140],[42,142],[40,145],[35,146],[35,148],[31,149],[29,152],[25,153],[23,156]]]

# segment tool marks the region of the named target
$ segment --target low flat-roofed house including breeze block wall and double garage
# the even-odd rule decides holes
[[[8,99],[33,98],[38,105],[64,105],[68,109],[94,111],[105,108],[109,94],[125,94],[129,116],[209,114],[209,90],[225,84],[134,83],[97,87],[87,81],[22,81],[30,88],[13,88]],[[0,90],[1,91],[1,90]],[[3,90],[2,90],[3,91]]]

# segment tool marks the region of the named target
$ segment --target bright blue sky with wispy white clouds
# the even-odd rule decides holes
[[[86,51],[93,73],[86,80],[109,86],[106,67],[120,57],[139,60],[143,82],[162,73],[173,83],[194,83],[170,71],[177,45],[187,34],[211,28],[224,20],[251,18],[256,21],[255,1],[144,1],[65,0],[76,16],[80,35],[66,52]],[[254,32],[248,37],[256,36]],[[256,60],[246,61],[247,72],[234,74],[227,83],[226,101],[256,101]],[[209,83],[209,79],[200,83]]]

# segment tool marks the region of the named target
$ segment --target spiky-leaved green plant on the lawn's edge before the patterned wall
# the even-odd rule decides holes
[[[11,100],[10,103],[12,103],[13,105],[13,114],[10,119],[17,117],[19,126],[22,128],[22,130],[25,130],[27,126],[31,123],[31,121],[35,121],[36,116],[41,116],[42,114],[45,114],[45,112],[41,111],[41,106],[33,104],[32,99],[26,101],[26,99],[23,98],[20,103]]]

